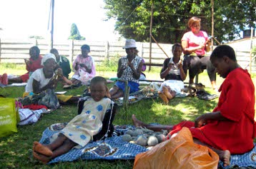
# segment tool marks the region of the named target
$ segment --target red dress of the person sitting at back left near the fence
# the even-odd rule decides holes
[[[21,80],[23,82],[26,82],[29,80],[29,72],[34,72],[36,71],[36,69],[38,68],[43,68],[44,66],[41,66],[41,59],[43,57],[41,55],[39,55],[39,58],[37,58],[36,60],[29,58],[29,63],[26,64],[26,71],[28,71],[27,73],[25,73],[24,75],[21,75]]]

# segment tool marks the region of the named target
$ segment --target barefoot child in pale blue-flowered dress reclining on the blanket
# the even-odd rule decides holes
[[[90,140],[100,140],[104,136],[112,135],[115,110],[112,101],[105,97],[109,96],[106,79],[100,76],[92,78],[89,89],[91,96],[85,97],[82,113],[61,130],[56,140],[49,145],[34,142],[34,158],[48,163],[76,145],[84,147]]]

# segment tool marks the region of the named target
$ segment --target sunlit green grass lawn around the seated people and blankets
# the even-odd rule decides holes
[[[13,68],[2,68],[0,72],[22,74],[26,71],[14,70]],[[105,78],[116,76],[115,72],[98,71],[99,76]],[[146,72],[148,79],[159,80],[159,70]],[[223,80],[217,78],[217,84]],[[254,83],[256,77],[253,77]],[[206,90],[210,93],[210,81],[206,71],[200,74],[200,82],[205,84]],[[110,83],[109,88],[113,86]],[[70,89],[67,95],[79,95],[84,91],[82,86],[77,89]],[[59,84],[56,91],[64,91]],[[0,94],[9,97],[21,97],[24,87],[0,88]],[[127,111],[119,108],[114,125],[132,124],[131,116],[136,114],[137,118],[147,123],[175,124],[183,120],[194,121],[197,116],[207,113],[215,108],[218,98],[212,101],[202,101],[198,98],[174,98],[169,105],[162,104],[159,98],[142,100],[129,105]],[[31,156],[31,148],[34,140],[40,140],[42,132],[53,123],[70,121],[77,115],[77,105],[62,106],[58,110],[42,116],[34,125],[18,126],[18,133],[0,138],[0,168],[132,168],[133,160],[78,160],[72,163],[56,163],[53,165],[42,165]]]

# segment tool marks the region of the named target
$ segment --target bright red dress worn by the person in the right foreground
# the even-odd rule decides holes
[[[182,122],[174,126],[172,133],[188,127],[193,138],[219,150],[230,150],[232,154],[250,151],[255,137],[255,87],[250,74],[242,68],[231,71],[220,86],[219,102],[213,112],[230,121],[208,121],[201,128],[193,122]]]

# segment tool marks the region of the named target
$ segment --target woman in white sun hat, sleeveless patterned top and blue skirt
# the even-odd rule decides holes
[[[110,89],[111,98],[124,96],[124,81],[128,81],[129,93],[139,91],[139,76],[142,73],[142,58],[136,55],[136,41],[127,39],[124,47],[127,56],[123,56],[118,61],[117,77],[120,79]]]

